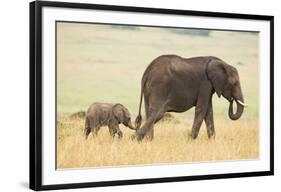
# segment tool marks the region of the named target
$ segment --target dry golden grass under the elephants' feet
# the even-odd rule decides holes
[[[188,137],[192,120],[155,125],[152,142],[132,141],[134,131],[121,126],[123,139],[112,139],[102,127],[98,137],[85,140],[84,120],[60,117],[57,126],[57,168],[81,168],[153,163],[255,159],[259,156],[258,121],[216,119],[216,137],[208,139],[205,125],[199,137]]]

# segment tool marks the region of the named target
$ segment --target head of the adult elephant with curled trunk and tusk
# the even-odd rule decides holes
[[[213,58],[208,63],[206,72],[218,97],[223,95],[223,97],[229,101],[229,118],[232,120],[239,119],[246,104],[244,104],[239,75],[236,68],[226,64],[220,59]],[[236,113],[233,112],[233,101],[235,101],[237,105]]]

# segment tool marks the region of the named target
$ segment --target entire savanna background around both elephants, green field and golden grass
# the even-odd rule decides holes
[[[258,34],[209,31],[198,35],[194,32],[202,31],[57,25],[58,169],[258,158]],[[228,102],[214,95],[216,137],[211,140],[204,124],[198,139],[188,137],[194,109],[172,113],[174,118],[157,123],[152,142],[131,141],[133,131],[124,126],[120,126],[121,140],[112,139],[106,127],[98,137],[85,140],[84,118],[70,114],[86,111],[93,102],[122,103],[134,119],[142,74],[162,54],[213,55],[235,66],[249,107],[239,120],[231,121]]]

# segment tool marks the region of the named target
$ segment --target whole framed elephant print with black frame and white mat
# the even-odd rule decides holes
[[[272,175],[273,27],[30,3],[30,188]]]

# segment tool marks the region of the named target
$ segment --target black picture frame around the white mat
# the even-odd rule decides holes
[[[218,18],[238,18],[264,20],[270,22],[270,170],[261,172],[241,172],[229,174],[211,174],[200,176],[145,178],[137,180],[101,181],[71,184],[42,184],[42,8],[62,7],[73,9],[114,10],[122,12],[160,13],[169,15],[205,16]],[[114,185],[133,185],[145,183],[179,182],[203,179],[222,179],[274,174],[274,17],[265,15],[248,15],[217,13],[189,10],[172,10],[146,7],[127,7],[115,5],[96,5],[66,2],[35,1],[30,3],[30,165],[29,181],[33,190],[68,189],[100,187]]]

